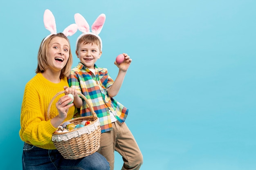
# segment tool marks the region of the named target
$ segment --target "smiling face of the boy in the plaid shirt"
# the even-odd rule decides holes
[[[101,51],[97,44],[79,44],[76,55],[86,67],[94,69],[94,64],[101,57]]]

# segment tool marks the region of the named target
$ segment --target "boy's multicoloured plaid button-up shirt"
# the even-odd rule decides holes
[[[92,104],[97,117],[99,117],[101,132],[103,133],[112,130],[109,110],[118,121],[123,123],[127,117],[128,109],[108,95],[107,89],[114,82],[108,74],[108,70],[106,68],[98,68],[96,65],[94,67],[95,75],[79,62],[76,67],[72,68],[68,77],[68,84],[82,93]],[[90,108],[86,106],[85,101],[83,101],[80,115],[91,115]]]

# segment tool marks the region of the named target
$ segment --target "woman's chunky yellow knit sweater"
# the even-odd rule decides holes
[[[20,113],[20,139],[28,144],[44,149],[56,149],[52,142],[52,133],[56,130],[47,120],[47,108],[56,93],[63,91],[68,86],[67,79],[60,83],[49,82],[41,73],[37,73],[25,86]],[[63,96],[54,99],[50,109],[50,119],[58,115],[56,102]],[[69,108],[67,118],[72,119],[74,106]]]

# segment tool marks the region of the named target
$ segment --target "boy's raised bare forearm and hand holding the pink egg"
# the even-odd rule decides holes
[[[123,53],[123,54],[125,57],[124,62],[122,62],[120,64],[117,64],[117,62],[115,62],[115,65],[119,68],[119,72],[118,72],[117,78],[115,79],[112,86],[110,86],[108,88],[108,95],[110,97],[115,97],[118,94],[118,92],[124,82],[124,77],[127,73],[130,63],[132,62],[132,59],[130,59],[129,55],[127,55],[126,53]]]

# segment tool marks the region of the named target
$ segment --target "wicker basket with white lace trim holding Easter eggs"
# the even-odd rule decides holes
[[[54,99],[61,93],[64,93],[64,91],[57,93],[49,103],[47,111],[48,119],[51,104]],[[68,122],[73,124],[80,124],[84,120],[90,120],[92,122],[86,126],[83,126],[82,128],[78,128],[71,132],[53,133],[52,141],[54,143],[54,146],[65,159],[79,159],[82,157],[86,157],[93,154],[94,152],[97,152],[100,146],[101,128],[99,118],[97,117],[92,106],[88,102],[88,99],[86,99],[83,94],[78,94],[82,96],[86,104],[88,104],[92,112],[92,116],[78,117],[68,120]]]

